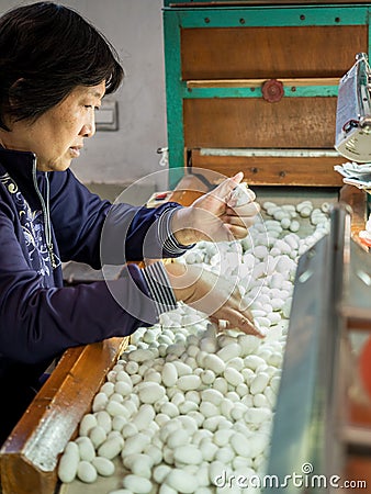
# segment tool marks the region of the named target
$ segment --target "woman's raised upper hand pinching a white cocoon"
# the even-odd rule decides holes
[[[171,224],[177,240],[190,245],[200,240],[231,242],[246,237],[260,207],[250,190],[247,191],[248,202],[236,205],[233,190],[243,178],[244,175],[239,172],[196,199],[190,206],[179,209]]]

